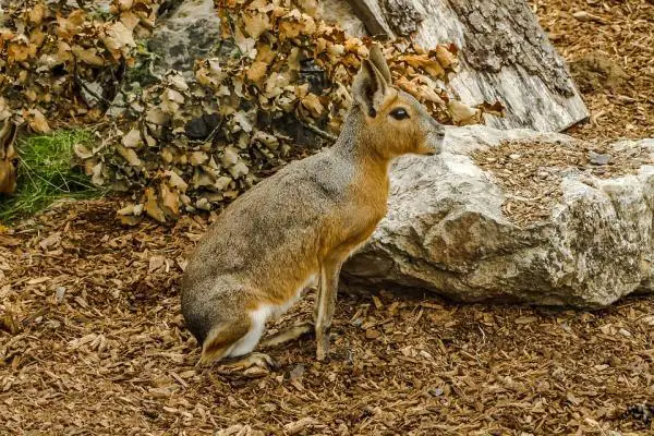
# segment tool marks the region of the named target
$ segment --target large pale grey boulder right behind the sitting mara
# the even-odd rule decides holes
[[[654,167],[597,179],[570,172],[543,222],[519,227],[507,193],[468,156],[504,140],[571,141],[486,126],[452,129],[439,157],[400,159],[387,217],[343,268],[349,283],[410,287],[459,301],[601,307],[654,289]],[[654,140],[621,142],[644,147]]]

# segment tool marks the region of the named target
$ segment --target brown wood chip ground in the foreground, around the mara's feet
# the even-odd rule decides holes
[[[114,210],[63,203],[0,235],[1,434],[653,432],[654,296],[591,313],[342,293],[328,362],[307,338],[268,374],[196,370],[178,281],[206,222],[125,230]]]

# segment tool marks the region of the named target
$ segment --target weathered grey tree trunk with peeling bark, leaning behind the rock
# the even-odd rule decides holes
[[[460,72],[447,86],[471,106],[501,101],[506,117],[486,114],[488,125],[562,131],[589,117],[525,0],[328,1],[335,2],[349,3],[371,35],[412,34],[424,48],[455,43]],[[337,20],[351,23],[351,17]]]

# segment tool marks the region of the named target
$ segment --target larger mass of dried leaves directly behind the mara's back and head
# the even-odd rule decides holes
[[[350,37],[311,4],[289,0],[217,1],[217,10],[223,56],[197,60],[194,82],[169,72],[129,93],[128,124],[106,132],[106,146],[78,155],[96,183],[136,192],[118,213],[124,223],[222,206],[290,159],[332,143],[351,105],[371,39]],[[477,123],[484,111],[502,110],[447,95],[453,45],[387,43],[385,55],[395,83],[444,123]]]

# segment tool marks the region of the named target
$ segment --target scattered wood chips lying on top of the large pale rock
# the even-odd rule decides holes
[[[506,201],[504,214],[519,226],[549,218],[554,205],[562,196],[566,175],[615,178],[635,174],[643,165],[652,165],[644,147],[609,149],[582,141],[504,142],[497,147],[480,149],[471,158],[501,186]]]

